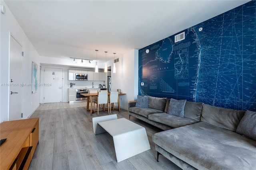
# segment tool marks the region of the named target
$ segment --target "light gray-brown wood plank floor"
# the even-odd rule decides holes
[[[111,112],[129,119],[123,109]],[[107,114],[99,111],[99,116]],[[40,104],[30,117],[39,117],[39,144],[29,170],[180,170],[164,156],[156,161],[152,135],[161,130],[135,117],[130,120],[145,127],[151,149],[117,163],[112,137],[93,133],[96,116],[86,111],[86,102]]]

